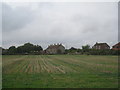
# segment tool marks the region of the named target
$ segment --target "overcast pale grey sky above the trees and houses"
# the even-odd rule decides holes
[[[66,48],[118,42],[117,2],[2,4],[2,46],[62,43]]]

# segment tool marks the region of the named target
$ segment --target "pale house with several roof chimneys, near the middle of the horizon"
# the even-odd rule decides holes
[[[48,46],[45,52],[46,54],[64,54],[65,47],[62,44],[54,44],[54,45]]]

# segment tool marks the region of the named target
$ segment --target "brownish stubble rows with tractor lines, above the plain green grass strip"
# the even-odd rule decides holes
[[[10,60],[9,60],[10,61]],[[117,66],[97,64],[75,56],[26,55],[3,66],[4,73],[82,73],[112,72]]]

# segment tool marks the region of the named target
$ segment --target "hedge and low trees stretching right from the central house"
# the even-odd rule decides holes
[[[71,47],[66,49],[66,54],[81,54],[81,55],[120,55],[120,51],[112,49],[93,49],[90,45],[82,46],[82,49]]]

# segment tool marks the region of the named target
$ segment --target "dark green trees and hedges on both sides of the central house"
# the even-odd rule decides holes
[[[39,45],[33,45],[31,43],[25,43],[22,46],[11,46],[8,49],[2,48],[2,55],[40,55],[43,54],[43,48]],[[120,51],[112,49],[96,50],[90,48],[90,45],[82,46],[82,49],[71,47],[65,49],[64,54],[80,54],[80,55],[119,55]]]

